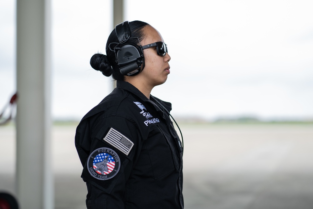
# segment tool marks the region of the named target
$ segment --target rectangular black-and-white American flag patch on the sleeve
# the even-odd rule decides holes
[[[129,140],[126,136],[111,128],[106,134],[104,141],[111,144],[113,147],[119,149],[122,153],[128,155],[134,143]]]

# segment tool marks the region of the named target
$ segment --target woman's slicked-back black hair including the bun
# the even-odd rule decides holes
[[[143,40],[145,38],[144,37],[145,34],[143,33],[143,28],[146,25],[149,25],[149,24],[139,21],[139,20],[129,22],[129,27],[131,29],[131,38],[138,37],[139,41]],[[129,39],[128,43],[131,42],[131,43],[140,45],[140,43],[138,42],[138,39]],[[112,75],[112,77],[115,80],[123,81],[124,76],[121,74],[117,63],[115,62],[116,58],[115,58],[114,51],[111,51],[109,48],[109,44],[111,43],[119,43],[115,29],[111,32],[106,42],[106,47],[105,47],[106,55],[99,54],[99,53],[93,55],[90,59],[90,65],[93,69],[97,71],[101,71],[102,74],[105,76]],[[111,48],[114,48],[114,46],[111,46]]]

